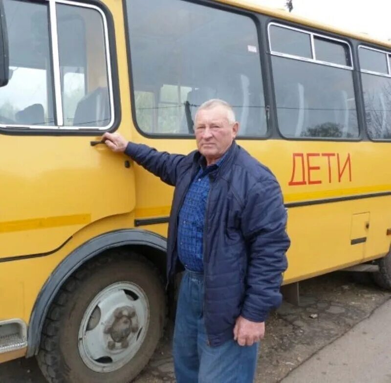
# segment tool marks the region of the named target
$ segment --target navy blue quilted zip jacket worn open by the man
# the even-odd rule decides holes
[[[201,154],[158,152],[129,143],[134,161],[175,186],[167,243],[167,277],[178,260],[178,213],[199,170]],[[265,166],[235,142],[222,166],[210,173],[211,187],[203,237],[204,319],[208,340],[218,346],[233,339],[235,321],[263,322],[281,304],[280,285],[290,241],[280,186]]]

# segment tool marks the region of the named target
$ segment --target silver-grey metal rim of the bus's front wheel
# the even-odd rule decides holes
[[[141,347],[150,323],[148,298],[140,286],[117,282],[88,305],[78,334],[79,353],[93,371],[111,372]]]

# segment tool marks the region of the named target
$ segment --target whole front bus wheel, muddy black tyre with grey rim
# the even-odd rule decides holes
[[[61,287],[43,325],[38,364],[51,383],[127,383],[163,333],[166,299],[138,255],[92,260]]]

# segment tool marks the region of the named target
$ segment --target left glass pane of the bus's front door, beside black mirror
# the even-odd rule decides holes
[[[4,0],[10,81],[0,88],[0,124],[53,126],[47,3]]]

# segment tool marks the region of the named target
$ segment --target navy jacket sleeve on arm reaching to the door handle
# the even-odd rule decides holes
[[[182,154],[157,151],[147,145],[133,142],[128,143],[125,154],[171,186],[175,186],[178,177],[178,165],[186,157]]]

